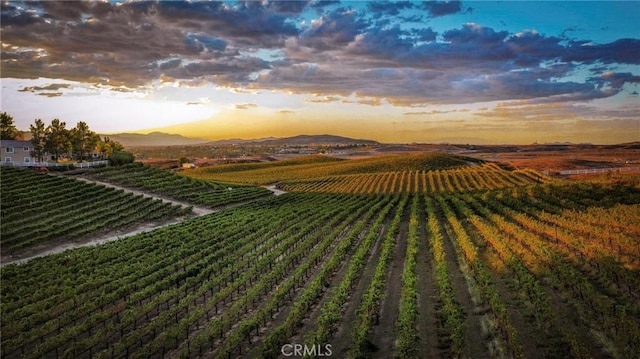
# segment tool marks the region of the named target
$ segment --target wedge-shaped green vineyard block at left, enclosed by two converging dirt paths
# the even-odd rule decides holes
[[[0,171],[3,254],[191,213],[189,207],[62,176],[4,166]]]

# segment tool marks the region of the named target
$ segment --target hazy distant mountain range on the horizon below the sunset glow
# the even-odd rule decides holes
[[[109,137],[113,141],[120,142],[125,147],[146,146],[229,146],[229,145],[260,145],[260,146],[304,146],[304,145],[335,145],[335,144],[366,144],[376,145],[378,142],[366,139],[354,139],[333,135],[299,135],[293,137],[267,137],[260,139],[226,139],[211,141],[202,138],[190,138],[182,135],[168,134],[164,132],[151,132],[149,134],[118,133],[101,135]]]

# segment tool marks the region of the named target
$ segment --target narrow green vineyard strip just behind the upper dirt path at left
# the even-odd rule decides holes
[[[253,200],[270,194],[268,190],[260,187],[201,181],[143,165],[140,162],[98,168],[90,172],[90,177],[210,208]]]

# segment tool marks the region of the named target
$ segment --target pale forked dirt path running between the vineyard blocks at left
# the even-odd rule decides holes
[[[108,183],[108,182],[102,182],[102,181],[95,181],[95,180],[91,180],[91,179],[87,179],[87,178],[82,178],[82,177],[77,177],[78,180],[87,182],[87,183],[96,183],[99,185],[103,185],[106,187],[110,187],[110,188],[115,188],[115,189],[119,189],[119,190],[124,190],[127,193],[133,193],[136,195],[142,195],[144,197],[149,197],[149,198],[153,198],[153,199],[160,199],[164,202],[169,202],[173,205],[177,205],[177,206],[183,206],[183,207],[189,207],[191,206],[193,208],[193,214],[196,217],[199,216],[206,216],[209,214],[213,214],[213,213],[217,213],[220,212],[222,210],[225,209],[231,209],[231,208],[235,208],[238,206],[242,206],[245,205],[247,203],[253,202],[254,200],[249,200],[249,201],[243,201],[243,202],[238,202],[238,203],[233,203],[233,204],[229,204],[226,206],[222,206],[219,209],[211,209],[211,208],[206,208],[206,207],[200,207],[200,206],[194,206],[191,203],[187,203],[187,202],[181,202],[181,201],[176,201],[173,199],[169,199],[166,197],[162,197],[162,196],[158,196],[155,194],[149,194],[147,192],[143,192],[143,191],[139,191],[139,190],[132,190],[129,188],[125,188],[122,186],[118,186],[112,183]],[[273,189],[265,187],[267,189],[269,189],[270,191],[272,191],[274,193],[274,195],[279,196],[282,194],[285,194],[287,192],[282,191],[282,190],[278,190],[275,188],[275,186],[273,186]],[[127,238],[127,237],[131,237],[134,236],[136,234],[140,234],[140,233],[144,233],[144,232],[149,232],[149,231],[153,231],[155,229],[159,229],[159,228],[163,228],[163,227],[167,227],[167,226],[171,226],[177,223],[181,223],[185,220],[187,220],[188,218],[192,218],[194,217],[193,215],[191,216],[182,216],[182,217],[177,217],[174,218],[172,220],[169,221],[162,221],[162,222],[146,222],[146,223],[140,223],[131,227],[126,227],[126,228],[120,228],[120,229],[116,229],[116,230],[112,230],[109,231],[107,233],[103,233],[100,235],[89,235],[89,236],[85,236],[83,238],[79,238],[73,241],[68,241],[68,242],[57,242],[57,243],[43,243],[43,244],[39,244],[36,245],[32,248],[29,248],[27,250],[25,250],[24,252],[20,253],[20,254],[16,254],[16,255],[12,255],[12,256],[2,256],[0,258],[0,267],[4,267],[5,265],[9,265],[9,264],[22,264],[22,263],[26,263],[29,260],[33,259],[33,258],[38,258],[38,257],[45,257],[51,254],[56,254],[56,253],[62,253],[68,249],[73,249],[73,248],[80,248],[80,247],[87,247],[87,246],[95,246],[95,245],[99,245],[99,244],[103,244],[103,243],[107,243],[107,242],[111,242],[111,241],[115,241],[118,239],[123,239],[123,238]]]

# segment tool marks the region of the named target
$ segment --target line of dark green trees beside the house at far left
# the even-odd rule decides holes
[[[16,128],[13,117],[6,112],[0,113],[2,140],[23,140],[23,134]],[[93,154],[99,154],[101,158],[109,159],[112,164],[133,162],[132,153],[124,150],[122,144],[112,141],[109,137],[100,138],[92,131],[86,122],[80,121],[74,128],[67,129],[67,124],[59,119],[54,119],[46,126],[44,121],[36,119],[29,125],[31,132],[31,144],[33,150],[31,156],[37,162],[43,162],[48,156],[56,162],[62,157],[73,158],[78,161],[90,159]]]

